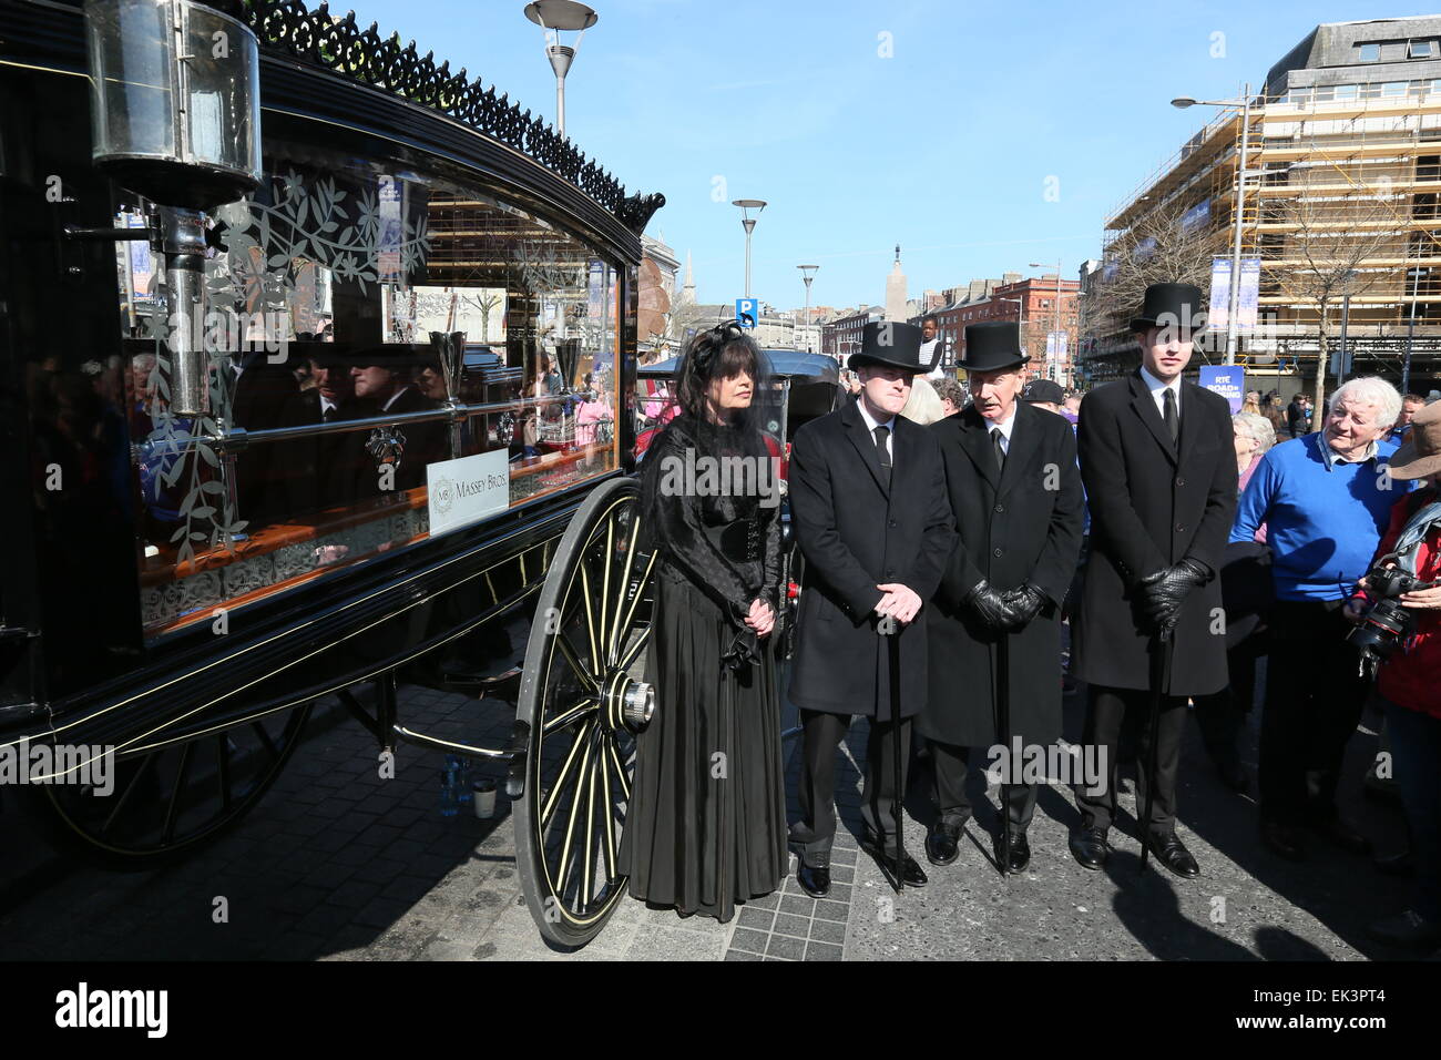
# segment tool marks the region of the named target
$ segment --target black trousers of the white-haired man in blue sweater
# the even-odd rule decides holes
[[[1366,705],[1340,600],[1278,600],[1261,715],[1261,816],[1300,826],[1336,815],[1346,744]]]

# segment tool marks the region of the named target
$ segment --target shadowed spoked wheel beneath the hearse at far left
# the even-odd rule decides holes
[[[300,743],[310,702],[183,741],[117,754],[95,785],[32,789],[52,836],[111,868],[170,864],[248,813]]]

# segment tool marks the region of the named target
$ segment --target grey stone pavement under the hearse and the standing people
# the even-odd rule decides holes
[[[504,743],[513,708],[465,695],[402,686],[412,728],[474,743]],[[1255,720],[1252,718],[1252,728]],[[790,721],[787,723],[790,724]],[[1069,702],[1076,738],[1081,707]],[[922,860],[931,883],[893,896],[872,858],[857,852],[865,721],[843,746],[837,806],[843,831],[834,890],[824,901],[782,890],[739,909],[728,924],[682,919],[625,900],[584,950],[550,949],[532,923],[514,862],[509,802],[497,816],[442,818],[444,756],[402,746],[393,780],[380,780],[373,738],[334,702],[316,714],[277,786],[239,826],[189,861],[144,873],[108,873],[62,860],[24,818],[0,815],[0,958],[287,959],[287,960],[836,960],[836,959],[1357,959],[1388,956],[1362,926],[1404,904],[1406,883],[1363,860],[1317,849],[1306,865],[1259,849],[1255,806],[1215,779],[1195,731],[1182,766],[1182,835],[1202,864],[1196,881],[1137,873],[1136,844],[1112,834],[1105,873],[1066,851],[1071,795],[1043,790],[1030,829],[1030,870],[1003,881],[990,860],[996,792],[981,799],[973,842],[948,868]],[[1245,756],[1254,763],[1254,731]],[[1398,815],[1360,799],[1375,737],[1353,740],[1344,805],[1356,808],[1383,851],[1401,842]],[[790,790],[797,760],[790,746]],[[484,769],[483,769],[484,772]],[[491,766],[497,779],[500,769]],[[922,858],[929,819],[924,772],[908,800],[906,844]],[[1123,796],[1123,805],[1133,808]],[[794,796],[791,805],[794,816]],[[1117,829],[1123,831],[1123,829]],[[229,919],[216,923],[216,900]]]

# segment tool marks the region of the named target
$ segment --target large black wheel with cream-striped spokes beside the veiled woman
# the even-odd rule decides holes
[[[559,946],[599,933],[625,893],[618,849],[635,734],[654,697],[635,679],[654,609],[633,479],[597,489],[546,575],[516,717],[529,725],[516,857],[530,914]]]

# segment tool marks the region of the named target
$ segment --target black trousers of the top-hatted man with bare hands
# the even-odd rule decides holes
[[[862,789],[860,816],[873,836],[883,836],[885,851],[895,854],[896,834],[892,818],[895,800],[904,798],[906,774],[911,769],[911,718],[899,724],[901,779],[895,776],[896,723],[870,718],[866,740],[866,776]],[[836,754],[846,738],[850,715],[801,711],[804,727],[801,787],[798,800],[801,819],[791,825],[791,842],[801,845],[806,864],[830,864],[830,848],[836,841]]]

